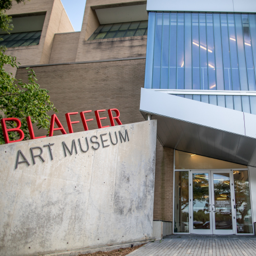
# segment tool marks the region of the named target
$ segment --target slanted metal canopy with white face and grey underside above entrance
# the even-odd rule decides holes
[[[256,167],[256,115],[142,88],[164,147]]]

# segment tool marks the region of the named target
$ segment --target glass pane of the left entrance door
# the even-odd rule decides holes
[[[192,174],[193,229],[210,229],[209,175]]]

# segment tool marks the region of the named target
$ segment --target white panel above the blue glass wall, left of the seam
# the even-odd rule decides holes
[[[234,9],[232,0],[147,0],[147,11],[234,12]]]

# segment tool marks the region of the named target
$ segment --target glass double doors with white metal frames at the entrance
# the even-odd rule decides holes
[[[235,234],[231,171],[190,173],[191,233]]]

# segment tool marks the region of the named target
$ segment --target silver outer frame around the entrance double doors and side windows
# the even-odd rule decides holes
[[[175,159],[175,158],[174,158]],[[250,191],[250,203],[251,203],[251,211],[252,211],[252,228],[253,228],[253,233],[251,233],[251,234],[243,234],[243,233],[237,233],[237,227],[236,227],[236,210],[234,211],[234,214],[235,214],[235,219],[234,219],[234,221],[235,221],[235,225],[234,225],[234,227],[233,228],[235,228],[235,233],[233,233],[233,234],[236,234],[236,235],[254,235],[254,225],[253,225],[253,223],[254,223],[254,220],[253,220],[253,208],[252,208],[252,193],[251,193],[251,179],[250,179],[250,170],[249,170],[249,167],[247,167],[247,168],[235,168],[235,169],[175,169],[175,161],[174,161],[174,183],[175,183],[175,172],[176,171],[188,171],[188,177],[189,177],[189,184],[192,184],[191,183],[191,176],[192,175],[189,175],[189,172],[190,171],[202,171],[202,172],[205,172],[205,171],[219,171],[219,172],[224,172],[225,170],[228,170],[228,171],[231,171],[231,173],[232,173],[232,177],[230,178],[230,180],[232,179],[232,181],[233,181],[233,185],[234,185],[234,177],[233,177],[233,171],[239,171],[239,170],[241,170],[241,171],[248,171],[248,175],[249,175],[249,191]],[[189,232],[182,232],[182,233],[180,233],[180,232],[174,232],[174,223],[175,223],[175,217],[174,217],[174,211],[173,211],[173,214],[172,214],[172,233],[173,234],[193,234],[193,232],[191,232],[191,230],[193,230],[193,229],[191,229],[191,219],[190,219],[190,216],[192,216],[191,215],[191,192],[190,192],[190,188],[191,186],[189,186]],[[175,184],[173,184],[173,193],[174,193],[174,196],[175,196],[175,191],[174,191],[174,189],[175,189]],[[232,193],[233,193],[233,195],[234,195],[234,200],[235,200],[235,189],[234,189],[234,186],[233,186],[233,188],[232,188]],[[172,200],[172,209],[174,209],[174,207],[175,207],[175,202],[174,202],[175,200],[174,200],[174,197],[173,197],[173,200]],[[232,201],[233,202],[233,201]],[[235,201],[234,201],[234,203],[235,203]],[[234,208],[234,206],[233,206],[233,208]]]

